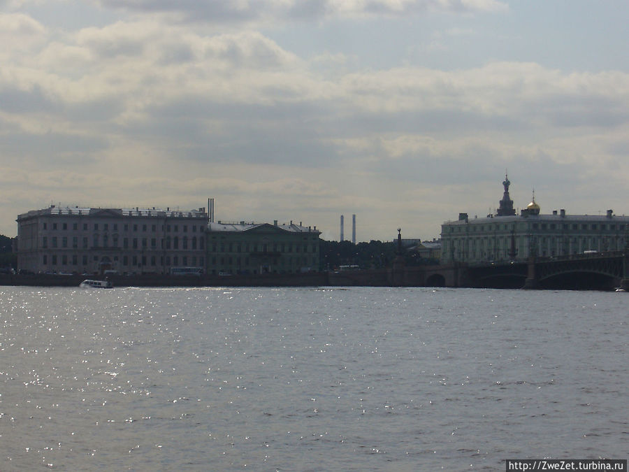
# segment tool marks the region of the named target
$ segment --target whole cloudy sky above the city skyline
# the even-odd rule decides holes
[[[358,241],[629,214],[626,0],[0,0],[0,234],[51,203]]]

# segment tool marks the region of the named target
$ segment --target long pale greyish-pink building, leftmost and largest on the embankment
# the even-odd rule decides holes
[[[170,273],[205,266],[205,208],[33,210],[17,217],[18,270]]]

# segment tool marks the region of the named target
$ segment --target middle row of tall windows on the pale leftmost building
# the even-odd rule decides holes
[[[59,247],[69,248],[70,247],[68,245],[70,243],[68,240],[68,236],[62,236],[60,239],[61,239],[60,241],[61,245],[59,246],[59,238],[57,236],[50,236],[50,247],[51,248],[59,248]],[[174,236],[173,238],[171,238],[171,236],[166,236],[166,238],[159,239],[159,247],[161,249],[171,249],[171,246],[172,246],[173,249],[180,249],[179,246],[181,242],[181,249],[196,250],[198,246],[198,249],[202,250],[203,241],[204,241],[203,236],[199,236],[198,239],[196,236],[192,236],[191,238],[188,238],[188,236],[182,236],[182,238],[179,238],[179,236]],[[94,234],[92,236],[93,248],[100,248],[100,247],[117,248],[118,242],[119,241],[118,241],[117,236],[113,236],[113,238],[111,238],[111,241],[107,234],[104,234],[102,239],[100,238],[98,234]],[[101,246],[101,243],[102,243],[102,246]],[[141,248],[146,249],[149,247],[148,243],[149,243],[149,238],[131,238],[132,249],[138,249],[140,248],[140,245],[141,245]],[[78,236],[72,236],[71,244],[72,244],[71,247],[73,249],[78,249],[79,247]],[[41,247],[44,249],[48,248],[48,236],[42,236]],[[129,238],[122,238],[122,248],[129,249],[129,247],[130,247]],[[87,236],[83,236],[82,238],[82,248],[83,249],[89,248],[89,241],[88,241]],[[153,250],[157,249],[157,238],[150,238],[150,248]]]

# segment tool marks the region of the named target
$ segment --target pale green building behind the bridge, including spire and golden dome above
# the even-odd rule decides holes
[[[629,217],[614,215],[612,210],[605,215],[570,215],[562,209],[544,215],[535,195],[526,209],[515,215],[509,180],[503,185],[505,194],[496,215],[470,220],[467,213],[460,213],[458,220],[442,224],[442,264],[623,250],[629,242]]]

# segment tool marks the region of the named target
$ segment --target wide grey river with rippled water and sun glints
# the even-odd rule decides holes
[[[0,287],[0,469],[626,458],[628,294]]]

